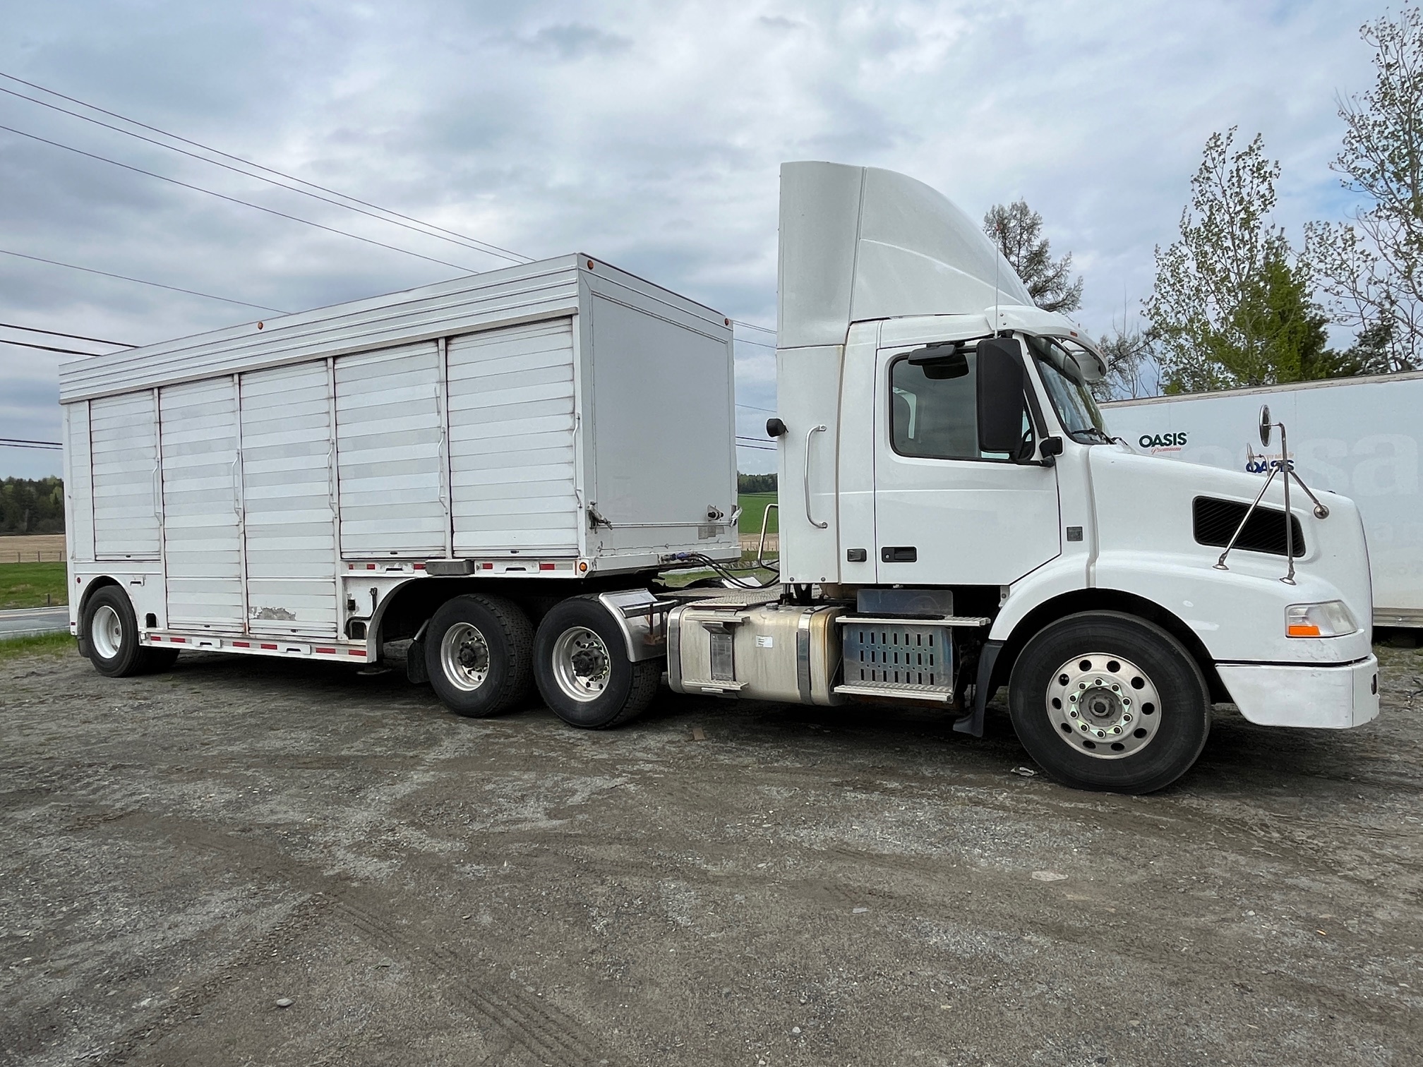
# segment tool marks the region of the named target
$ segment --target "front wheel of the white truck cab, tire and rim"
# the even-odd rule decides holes
[[[1155,623],[1086,612],[1040,630],[1009,680],[1013,730],[1079,790],[1151,792],[1185,774],[1211,731],[1200,666]]]

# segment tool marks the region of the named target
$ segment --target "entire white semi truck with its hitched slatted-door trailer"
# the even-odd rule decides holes
[[[780,580],[740,563],[730,320],[576,255],[65,364],[81,650],[403,650],[451,711],[589,728],[665,677],[980,736],[1006,686],[1044,771],[1124,792],[1215,703],[1377,714],[1353,504],[1113,441],[1091,341],[942,195],[785,164],[778,275]]]

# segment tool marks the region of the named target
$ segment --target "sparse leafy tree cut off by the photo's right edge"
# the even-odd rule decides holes
[[[1335,319],[1358,329],[1366,367],[1423,367],[1423,13],[1365,23],[1373,90],[1339,102],[1343,151],[1331,164],[1369,206],[1353,223],[1306,228],[1306,253]],[[1382,346],[1383,359],[1377,359]]]

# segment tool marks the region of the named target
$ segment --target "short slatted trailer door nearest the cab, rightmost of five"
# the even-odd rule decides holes
[[[569,320],[454,337],[448,367],[455,553],[576,552]]]

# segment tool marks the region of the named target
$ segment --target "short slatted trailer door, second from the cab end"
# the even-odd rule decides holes
[[[444,553],[440,371],[434,341],[336,360],[343,556]]]

